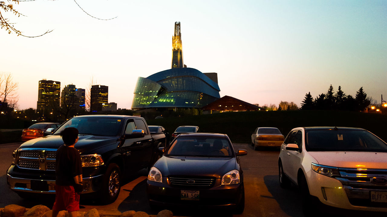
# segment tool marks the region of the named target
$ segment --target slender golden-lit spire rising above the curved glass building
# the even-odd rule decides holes
[[[183,67],[183,47],[180,22],[175,22],[175,35],[172,36],[172,68]]]

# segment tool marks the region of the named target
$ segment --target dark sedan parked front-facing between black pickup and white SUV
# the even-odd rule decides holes
[[[243,171],[226,134],[180,134],[149,171],[149,205],[218,207],[242,213]]]

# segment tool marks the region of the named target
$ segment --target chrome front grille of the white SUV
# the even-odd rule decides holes
[[[372,202],[370,192],[386,192],[387,185],[371,182],[373,177],[382,177],[387,179],[387,170],[378,169],[356,169],[356,168],[338,168],[341,177],[339,180],[352,205],[368,207],[385,207],[385,203]]]

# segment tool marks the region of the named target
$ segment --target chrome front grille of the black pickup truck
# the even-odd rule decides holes
[[[31,170],[55,170],[56,149],[21,148],[17,166]]]

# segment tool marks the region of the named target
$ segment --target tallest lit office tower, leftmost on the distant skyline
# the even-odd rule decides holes
[[[60,82],[40,80],[38,86],[38,103],[36,111],[41,113],[52,112],[59,108]]]

